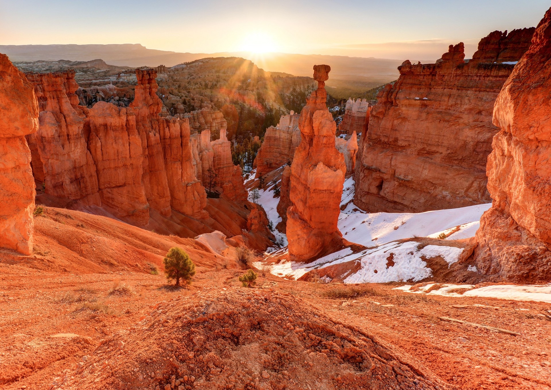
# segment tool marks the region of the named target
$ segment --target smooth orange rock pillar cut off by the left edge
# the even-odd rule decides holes
[[[25,136],[38,128],[33,84],[0,54],[0,248],[33,253],[35,186]]]

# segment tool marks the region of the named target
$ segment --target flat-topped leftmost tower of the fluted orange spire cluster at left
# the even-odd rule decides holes
[[[86,116],[78,106],[74,71],[28,73],[39,101],[39,131],[27,136],[34,178],[44,192],[86,205],[101,205],[94,160],[88,150]]]

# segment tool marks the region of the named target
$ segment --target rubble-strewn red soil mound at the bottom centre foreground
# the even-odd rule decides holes
[[[59,388],[447,388],[290,294],[212,289],[153,309]]]

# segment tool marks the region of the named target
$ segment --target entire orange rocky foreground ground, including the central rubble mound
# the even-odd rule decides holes
[[[551,321],[538,316],[549,304],[540,302],[261,272],[247,289],[243,271],[223,264],[197,267],[188,290],[161,274],[0,267],[6,389],[551,388]]]

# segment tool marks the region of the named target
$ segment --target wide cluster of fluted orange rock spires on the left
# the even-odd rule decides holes
[[[207,218],[206,193],[193,170],[187,118],[160,117],[156,73],[137,69],[134,101],[78,106],[74,73],[28,74],[40,103],[29,136],[35,179],[45,192],[98,205],[143,226],[149,208]]]

